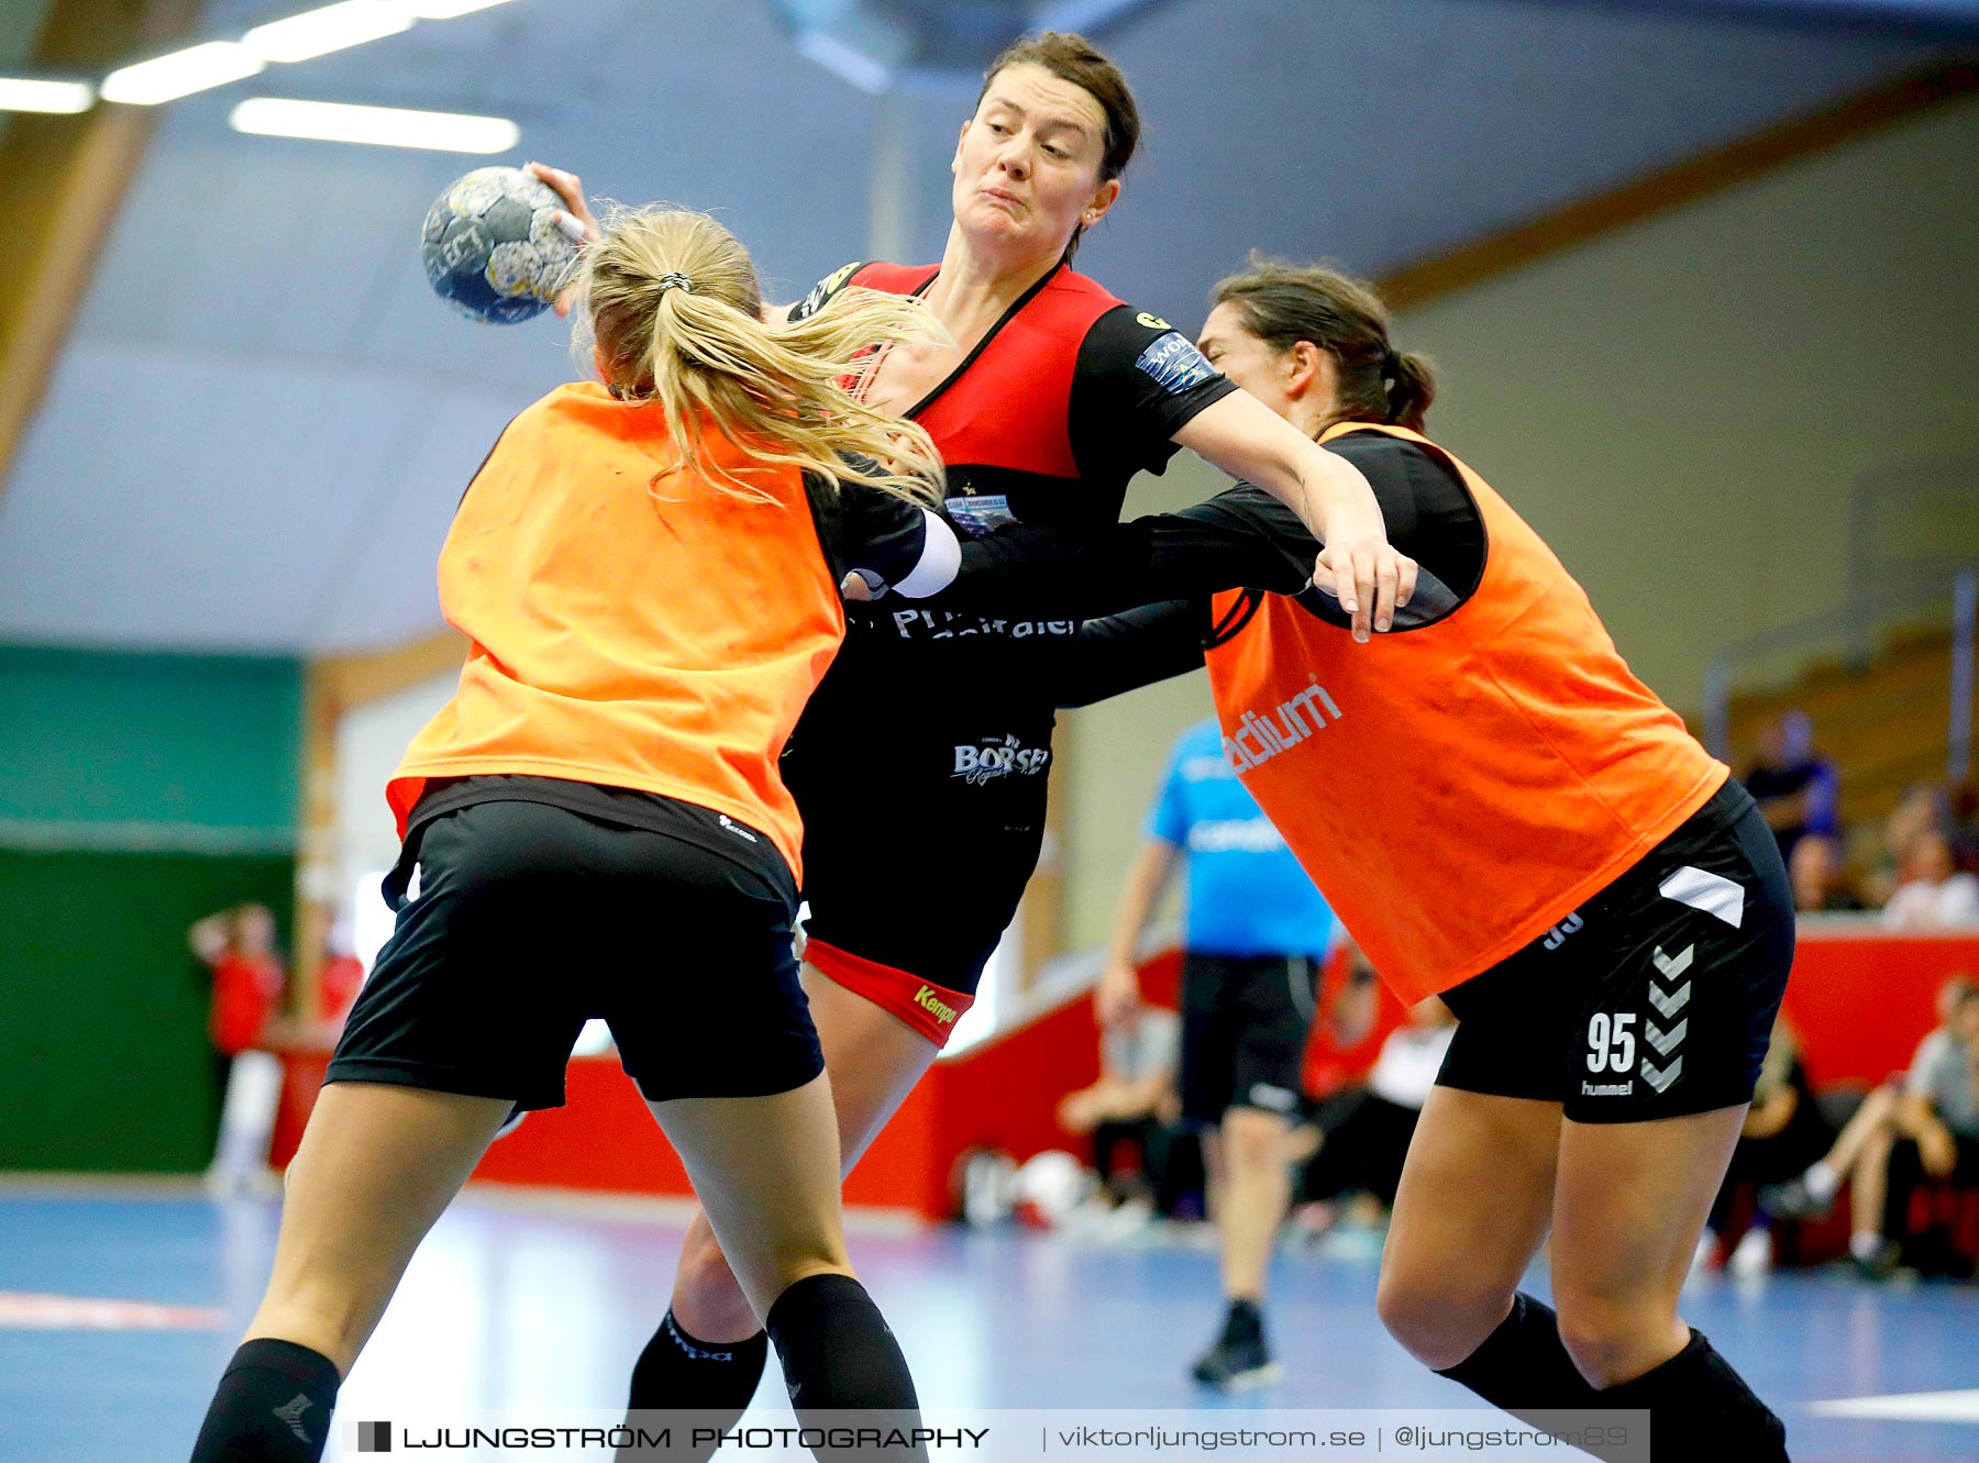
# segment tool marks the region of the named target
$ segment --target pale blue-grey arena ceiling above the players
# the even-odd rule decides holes
[[[202,32],[299,8],[214,0]],[[477,160],[243,137],[241,97],[513,117],[507,160],[718,210],[796,297],[875,242],[940,251],[974,69],[1037,22],[1090,28],[1148,119],[1081,267],[1185,329],[1251,247],[1389,275],[1979,36],[1951,0],[515,0],[420,24],[162,109],[0,487],[0,641],[424,635],[465,479],[570,374],[554,317],[479,327],[425,289],[420,218]]]

